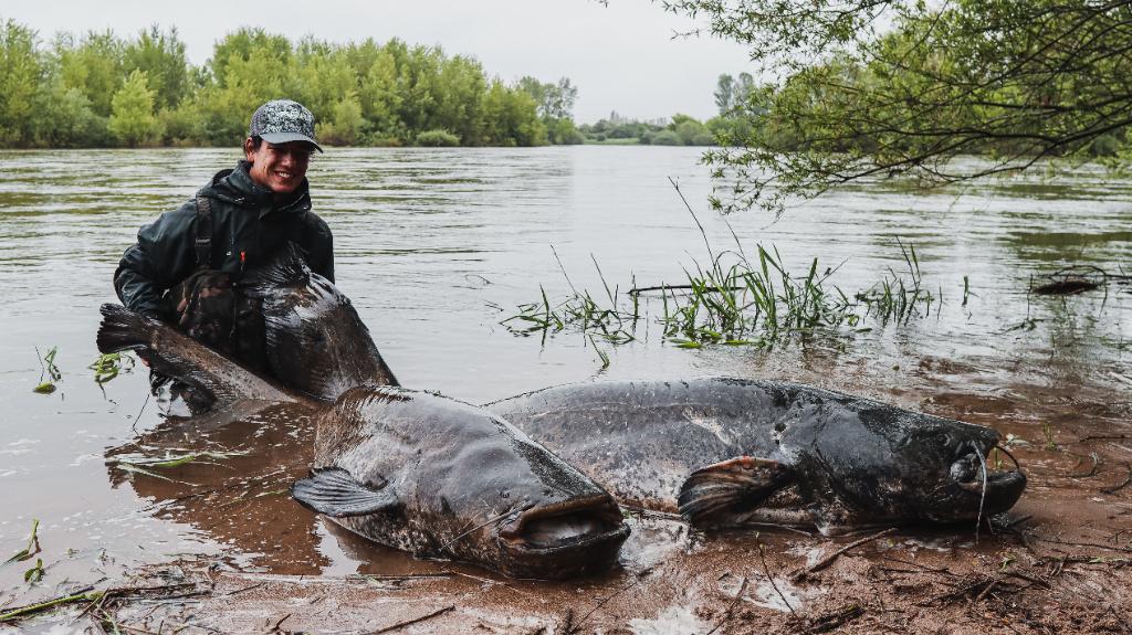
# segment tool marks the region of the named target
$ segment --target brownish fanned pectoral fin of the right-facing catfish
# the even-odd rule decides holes
[[[791,479],[790,468],[778,461],[738,456],[692,472],[677,502],[680,514],[695,527],[728,524]]]

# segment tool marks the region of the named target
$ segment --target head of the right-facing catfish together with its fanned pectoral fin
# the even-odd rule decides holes
[[[1017,466],[992,464],[998,438],[988,427],[866,400],[811,403],[782,430],[775,456],[694,472],[680,511],[693,523],[736,524],[784,499],[824,534],[976,522],[1009,510],[1026,488]]]

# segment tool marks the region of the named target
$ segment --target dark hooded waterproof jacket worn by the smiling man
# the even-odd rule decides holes
[[[197,193],[211,199],[211,268],[239,276],[292,241],[307,252],[310,269],[333,282],[331,228],[310,211],[307,181],[288,200],[275,202],[271,190],[248,175],[248,165],[241,160],[235,169],[217,173]],[[197,269],[196,226],[197,205],[191,199],[138,230],[137,244],[126,250],[114,271],[114,290],[123,305],[154,318],[170,318],[162,294]]]

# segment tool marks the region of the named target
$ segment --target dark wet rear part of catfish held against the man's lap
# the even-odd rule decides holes
[[[283,385],[324,401],[360,385],[397,385],[350,298],[293,244],[240,287],[263,302],[268,366]]]

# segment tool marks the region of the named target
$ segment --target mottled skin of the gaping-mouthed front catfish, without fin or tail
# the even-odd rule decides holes
[[[616,503],[586,476],[507,421],[432,393],[348,391],[318,419],[315,466],[395,492],[402,508],[332,520],[419,556],[516,577],[572,577],[608,568],[628,536]],[[525,516],[540,510],[606,528],[542,550],[501,536],[522,534]]]

